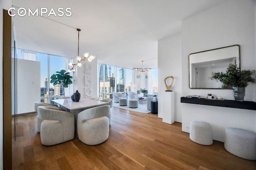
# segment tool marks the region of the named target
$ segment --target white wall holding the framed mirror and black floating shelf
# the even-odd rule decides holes
[[[188,55],[198,51],[239,44],[242,69],[255,69],[254,0],[231,0],[182,21],[182,95],[207,96],[207,93],[234,100],[232,90],[190,89],[188,87]],[[256,85],[246,87],[246,101],[256,101]],[[182,103],[182,131],[191,121],[210,123],[214,140],[224,142],[226,127],[256,132],[256,113]]]

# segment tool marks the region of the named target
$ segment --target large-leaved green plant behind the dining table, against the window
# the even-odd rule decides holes
[[[72,84],[71,79],[73,78],[72,76],[69,75],[69,72],[65,73],[66,70],[60,70],[60,71],[56,71],[56,73],[58,74],[53,74],[51,76],[51,81],[50,83],[52,83],[54,86],[56,84],[60,84],[63,85],[63,87],[68,87],[68,85]],[[64,96],[65,96],[65,92],[64,92]]]

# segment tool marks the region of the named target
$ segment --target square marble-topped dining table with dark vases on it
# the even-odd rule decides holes
[[[81,98],[78,102],[72,101],[71,98],[69,98],[69,99],[54,99],[52,101],[54,102],[54,104],[57,104],[59,107],[66,109],[67,112],[74,114],[76,137],[78,137],[77,117],[80,112],[82,112],[86,109],[90,109],[92,107],[109,105],[109,103],[107,103],[107,102],[96,101],[96,100],[87,99],[87,98]]]

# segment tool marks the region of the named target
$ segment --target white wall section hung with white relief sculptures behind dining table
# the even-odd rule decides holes
[[[97,57],[97,56],[96,56]],[[77,61],[74,61],[75,63]],[[95,58],[92,60],[92,62],[89,62],[87,60],[84,60],[81,62],[82,67],[76,66],[76,72],[73,74],[74,75],[74,93],[76,90],[79,91],[81,94],[81,98],[87,98],[85,96],[85,89],[91,88],[92,89],[92,97],[98,96],[98,91],[97,91],[97,59]],[[91,74],[85,74],[85,64],[88,63],[91,65]],[[91,86],[86,86],[84,83],[85,76],[91,76],[92,77],[92,85]]]

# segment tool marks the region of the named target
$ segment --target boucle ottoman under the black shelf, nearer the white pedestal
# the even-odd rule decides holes
[[[190,123],[189,137],[198,144],[211,145],[213,143],[212,127],[206,122],[192,121]]]

